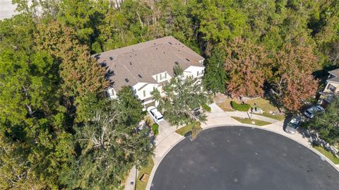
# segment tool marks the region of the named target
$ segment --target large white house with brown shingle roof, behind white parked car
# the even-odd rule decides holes
[[[173,68],[180,65],[184,77],[202,77],[204,58],[172,36],[150,40],[128,47],[95,54],[98,63],[107,66],[112,82],[106,90],[107,97],[116,98],[124,86],[133,88],[144,107],[156,105],[151,93],[162,87],[174,76]]]

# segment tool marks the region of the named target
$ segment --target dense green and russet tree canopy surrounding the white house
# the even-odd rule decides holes
[[[117,2],[13,0],[18,15],[0,20],[0,189],[116,187],[150,154],[140,101],[124,88],[106,102],[112,81],[91,54],[172,35],[206,57],[208,90],[263,95],[265,84],[291,111],[316,92],[314,71],[339,66],[339,1]],[[172,124],[203,121],[194,79],[164,89]]]

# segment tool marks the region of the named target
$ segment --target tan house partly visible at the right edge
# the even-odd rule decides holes
[[[333,100],[333,95],[339,93],[339,69],[328,71],[329,76],[323,92],[319,93],[319,104],[326,107]]]

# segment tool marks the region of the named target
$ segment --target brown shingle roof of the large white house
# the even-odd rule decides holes
[[[93,57],[99,64],[107,66],[109,79],[118,91],[124,85],[157,83],[152,77],[157,73],[167,71],[173,76],[175,62],[185,70],[189,66],[203,66],[199,61],[204,59],[172,36],[113,49]]]

